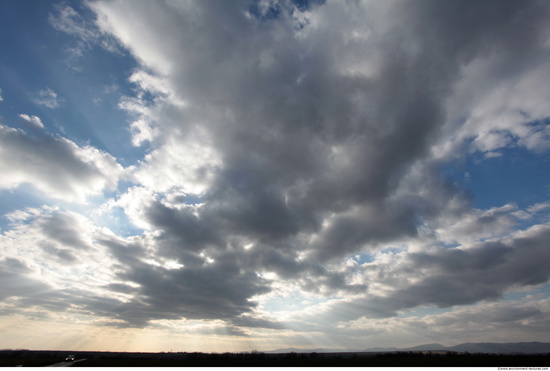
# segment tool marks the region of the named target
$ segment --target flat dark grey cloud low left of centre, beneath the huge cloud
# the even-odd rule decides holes
[[[119,275],[139,285],[111,285],[117,292],[134,294],[130,302],[96,298],[85,302],[96,315],[123,321],[123,326],[142,327],[153,319],[232,319],[251,312],[249,300],[268,292],[268,286],[252,272],[237,265],[169,270],[142,264]]]

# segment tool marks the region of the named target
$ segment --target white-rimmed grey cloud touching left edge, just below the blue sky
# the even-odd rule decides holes
[[[86,197],[113,189],[122,167],[107,153],[49,134],[30,136],[0,127],[0,187],[30,183],[50,197],[84,202]]]

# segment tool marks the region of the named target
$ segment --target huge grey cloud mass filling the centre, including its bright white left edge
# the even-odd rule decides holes
[[[201,252],[242,257],[246,269],[333,277],[326,287],[335,288],[347,286],[334,264],[354,253],[425,238],[426,229],[435,243],[466,243],[515,226],[509,209],[472,209],[438,169],[447,154],[468,153],[460,146],[471,138],[487,153],[544,147],[543,124],[522,132],[507,115],[508,135],[491,112],[548,116],[535,103],[542,83],[535,101],[513,88],[547,74],[545,5],[326,2],[302,11],[281,2],[272,19],[248,6],[90,4],[97,26],[141,62],[139,93],[121,107],[140,115],[134,144],[149,141],[152,151],[133,170],[141,206],[120,205],[155,233],[159,251],[182,264]],[[143,92],[155,100],[145,104]],[[489,112],[486,124],[474,123],[478,112]],[[173,203],[172,192],[201,206]]]

